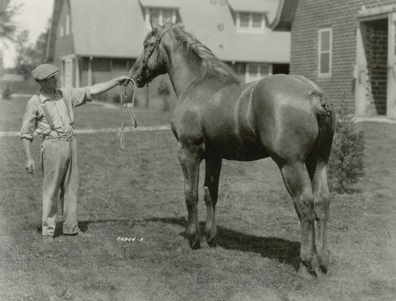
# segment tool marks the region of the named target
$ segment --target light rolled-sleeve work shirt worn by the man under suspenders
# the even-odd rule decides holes
[[[69,137],[74,133],[72,126],[74,114],[72,108],[91,100],[90,87],[55,89],[53,100],[46,99],[40,92],[40,96],[33,96],[26,105],[22,122],[21,139],[27,138],[33,140],[34,131],[42,138],[47,136],[49,132],[49,137]],[[70,118],[65,102],[69,106]],[[50,118],[55,126],[53,131],[51,131],[42,104],[46,104],[48,107]]]

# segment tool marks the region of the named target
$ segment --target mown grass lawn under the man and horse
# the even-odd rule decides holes
[[[0,132],[19,131],[27,100],[0,101]],[[93,103],[75,112],[78,129],[119,127],[119,109]],[[135,112],[138,126],[171,116]],[[0,300],[395,300],[396,125],[358,127],[366,175],[354,194],[332,196],[330,274],[312,282],[296,277],[299,221],[271,159],[223,161],[217,247],[185,253],[177,251],[187,209],[172,132],[127,132],[123,151],[119,133],[77,134],[79,226],[92,237],[63,238],[58,216],[56,242],[43,245],[41,171],[25,171],[19,137],[0,137]],[[204,162],[201,221],[203,177]]]

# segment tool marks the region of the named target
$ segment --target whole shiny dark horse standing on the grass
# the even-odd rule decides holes
[[[151,18],[150,24],[152,31],[129,76],[142,88],[156,76],[168,73],[177,96],[171,129],[178,141],[188,210],[181,248],[193,250],[214,244],[222,160],[271,157],[300,220],[297,275],[311,280],[326,274],[327,165],[336,126],[332,102],[321,88],[300,75],[275,74],[241,84],[230,66],[170,18],[162,26]],[[198,180],[203,159],[206,223],[201,235]]]

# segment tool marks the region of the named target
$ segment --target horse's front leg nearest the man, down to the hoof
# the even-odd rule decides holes
[[[196,145],[179,143],[178,155],[184,173],[184,197],[186,200],[188,221],[182,249],[199,248],[200,232],[198,223],[198,181],[199,164],[202,161],[200,148]]]

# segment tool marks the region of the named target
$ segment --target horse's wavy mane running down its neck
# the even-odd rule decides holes
[[[179,24],[172,24],[172,32],[175,35],[177,42],[176,47],[183,46],[187,51],[194,53],[201,62],[202,77],[216,77],[225,83],[240,83],[240,79],[235,71],[222,62],[213,52],[192,34],[186,32],[183,26]]]

